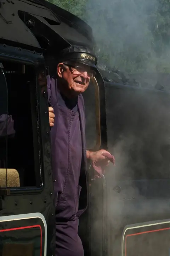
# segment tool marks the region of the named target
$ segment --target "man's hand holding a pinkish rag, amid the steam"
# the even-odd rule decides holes
[[[107,166],[110,161],[108,160],[107,157],[102,156],[103,153],[108,153],[109,155],[111,155],[111,153],[109,153],[108,151],[101,149],[95,152],[87,150],[86,156],[87,156],[87,159],[90,159],[92,162],[102,162],[102,164]]]

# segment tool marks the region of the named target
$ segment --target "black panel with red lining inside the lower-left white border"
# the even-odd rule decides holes
[[[0,237],[1,254],[8,255],[10,250],[20,255],[45,254],[45,226],[40,218],[1,221]]]

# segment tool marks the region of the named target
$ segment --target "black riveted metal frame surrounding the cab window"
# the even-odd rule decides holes
[[[45,72],[44,58],[40,53],[27,51],[24,49],[0,45],[0,59],[3,61],[15,61],[16,63],[23,63],[33,65],[36,76],[39,72]],[[38,136],[39,150],[40,150],[40,166],[43,177],[43,183],[40,188],[16,188],[11,189],[11,195],[4,196],[2,200],[1,216],[28,214],[28,213],[42,213],[47,223],[47,251],[48,255],[54,255],[55,250],[55,207],[54,207],[54,193],[53,193],[53,179],[51,173],[51,148],[50,148],[50,127],[48,113],[47,98],[42,94],[39,82],[34,84],[37,92],[36,105],[37,113],[34,113],[38,122],[34,132]],[[45,89],[46,90],[46,89]],[[46,94],[47,95],[47,94]],[[38,131],[38,132],[37,132]],[[48,132],[48,133],[47,133]],[[31,223],[28,221],[28,223]],[[5,223],[1,225],[3,229]],[[15,235],[15,234],[14,234]],[[21,239],[26,236],[20,231]],[[20,239],[20,238],[18,238]],[[20,240],[21,240],[20,239]],[[18,240],[18,241],[20,241]]]

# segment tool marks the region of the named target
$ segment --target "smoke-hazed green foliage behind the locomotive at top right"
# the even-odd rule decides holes
[[[170,72],[170,0],[49,0],[92,27],[99,63]]]

